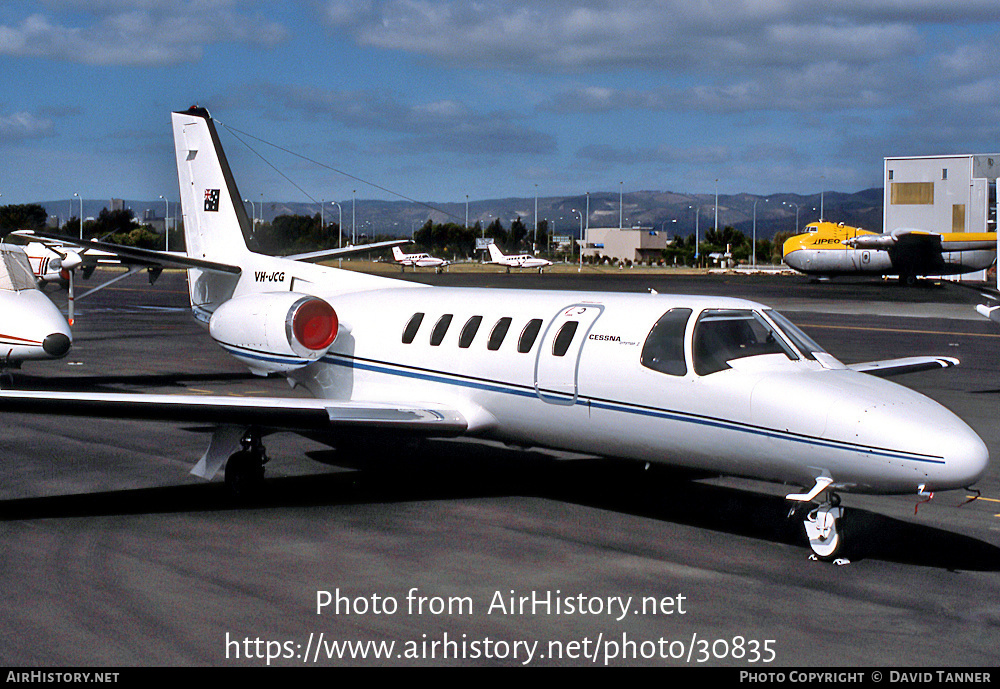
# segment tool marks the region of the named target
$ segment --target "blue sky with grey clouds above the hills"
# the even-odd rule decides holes
[[[996,0],[8,0],[0,203],[176,199],[194,103],[429,202],[857,191],[1000,150],[998,44]],[[222,137],[245,196],[393,198]]]

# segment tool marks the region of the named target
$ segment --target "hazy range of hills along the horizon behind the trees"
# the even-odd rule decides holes
[[[590,226],[618,227],[619,196],[617,192],[595,192],[590,194]],[[799,194],[720,194],[719,227],[731,225],[745,234],[753,231],[754,202],[757,202],[757,236],[759,239],[773,237],[776,232],[790,232],[795,229],[796,206],[799,227],[819,218],[820,194],[801,196]],[[58,216],[65,222],[70,216],[80,214],[80,201],[69,199],[44,201],[41,203],[50,216]],[[882,231],[882,189],[872,188],[854,193],[826,192],[822,196],[823,215],[826,220],[843,222],[863,227],[875,232]],[[177,213],[177,202],[171,201],[170,215]],[[344,232],[351,230],[351,199],[340,201],[343,211]],[[701,208],[699,228],[704,231],[715,222],[714,194],[684,194],[672,191],[633,191],[622,196],[621,217],[626,227],[639,225],[664,229],[672,235],[687,236],[695,231],[694,207]],[[125,200],[124,206],[131,208],[136,219],[142,220],[149,214],[152,218],[163,218],[166,205],[162,200]],[[255,203],[253,211],[259,216],[261,204]],[[84,200],[84,217],[96,217],[102,208],[111,208],[111,202]],[[548,219],[555,224],[556,234],[575,234],[579,231],[580,215],[586,212],[587,197],[558,196],[539,197],[538,219]],[[577,212],[574,212],[575,211]],[[248,212],[250,208],[248,207]],[[313,215],[319,213],[318,204],[265,201],[263,218],[270,221],[278,215]],[[579,213],[579,214],[578,214]],[[337,207],[327,201],[325,211],[327,222],[337,221]],[[535,199],[506,198],[469,201],[469,224],[477,221],[488,225],[500,218],[505,227],[519,217],[529,227],[533,227]],[[354,202],[354,225],[356,232],[367,235],[408,236],[428,218],[435,223],[455,222],[463,224],[466,217],[465,202],[427,202],[420,205],[410,201],[382,201],[357,199]]]

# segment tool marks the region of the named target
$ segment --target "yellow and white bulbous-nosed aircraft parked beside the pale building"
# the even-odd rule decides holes
[[[784,261],[807,275],[898,275],[913,284],[923,275],[958,275],[989,268],[997,257],[996,232],[886,234],[843,223],[815,222],[785,241]]]

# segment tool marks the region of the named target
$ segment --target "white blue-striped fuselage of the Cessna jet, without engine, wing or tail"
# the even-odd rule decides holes
[[[696,373],[692,341],[699,314],[766,313],[753,302],[428,288],[383,278],[352,284],[353,276],[335,269],[254,258],[280,264],[283,279],[308,286],[296,289],[337,311],[340,333],[329,352],[289,374],[316,397],[434,401],[461,411],[469,432],[481,437],[795,485],[827,475],[847,491],[957,488],[986,466],[982,440],[950,411],[908,388],[848,370],[829,355],[772,353]],[[234,296],[257,289],[246,281],[241,287]],[[676,308],[691,310],[683,375],[640,361],[653,325]],[[424,315],[406,343],[404,331],[417,313]],[[450,325],[439,326],[449,315]],[[460,346],[474,317],[481,317],[478,331]],[[491,334],[501,319],[510,319],[509,327],[493,348]],[[522,332],[535,319],[541,321],[537,336],[519,351]],[[556,356],[554,340],[569,320],[577,321],[577,331]]]

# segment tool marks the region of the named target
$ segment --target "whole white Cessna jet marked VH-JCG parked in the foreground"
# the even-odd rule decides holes
[[[314,399],[0,391],[0,409],[216,424],[192,473],[225,462],[237,492],[260,487],[277,431],[470,436],[774,481],[795,486],[823,559],[843,542],[841,493],[927,497],[986,469],[961,419],[880,377],[954,360],[845,366],[742,299],[443,288],[253,253],[208,111],[172,117],[195,318]]]

